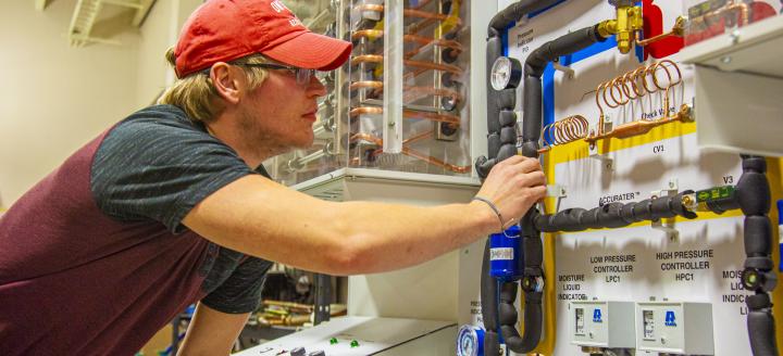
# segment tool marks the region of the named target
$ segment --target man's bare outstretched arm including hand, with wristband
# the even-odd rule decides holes
[[[538,161],[514,156],[493,168],[477,195],[519,219],[546,192]],[[499,231],[484,202],[419,207],[318,200],[260,176],[206,198],[183,223],[229,249],[331,275],[381,272],[432,259]]]

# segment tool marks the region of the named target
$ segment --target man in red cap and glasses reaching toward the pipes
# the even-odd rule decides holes
[[[2,354],[133,354],[199,301],[182,353],[225,355],[271,260],[402,268],[544,196],[538,162],[521,156],[493,169],[481,200],[435,207],[326,202],[269,179],[262,161],[312,143],[325,94],[313,69],[349,54],[278,1],[201,5],[167,55],[179,79],[162,105],[87,143],[0,219]]]

